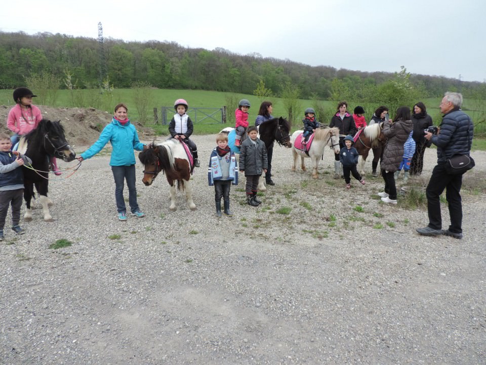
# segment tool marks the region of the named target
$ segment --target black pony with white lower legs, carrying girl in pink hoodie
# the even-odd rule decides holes
[[[21,154],[32,160],[32,167],[22,166],[24,172],[25,221],[32,220],[30,201],[34,197],[34,186],[42,204],[44,221],[54,222],[49,206],[52,200],[47,197],[49,187],[49,160],[52,157],[66,162],[74,160],[75,152],[66,141],[64,128],[60,122],[43,119],[37,128],[22,136],[18,149]]]

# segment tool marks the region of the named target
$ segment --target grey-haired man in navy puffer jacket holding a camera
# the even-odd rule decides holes
[[[454,238],[462,238],[462,175],[451,175],[446,171],[446,160],[456,154],[469,155],[471,151],[474,126],[471,118],[461,111],[462,95],[447,92],[440,102],[440,112],[444,114],[439,132],[433,135],[425,132],[425,138],[437,146],[437,165],[432,171],[427,186],[427,211],[429,224],[418,228],[417,232],[424,236],[441,234]],[[449,203],[451,225],[442,231],[440,215],[440,195],[446,189],[446,199]]]

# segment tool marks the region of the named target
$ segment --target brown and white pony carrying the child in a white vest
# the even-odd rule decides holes
[[[191,192],[191,166],[182,142],[177,139],[169,139],[160,144],[150,144],[147,150],[142,151],[138,158],[144,165],[142,182],[146,185],[152,185],[153,180],[158,173],[163,171],[166,174],[167,181],[171,186],[170,197],[171,211],[176,210],[176,187],[186,193],[187,205],[191,210],[196,210],[196,205],[192,200]]]

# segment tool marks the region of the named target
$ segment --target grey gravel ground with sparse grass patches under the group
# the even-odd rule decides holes
[[[214,139],[194,137],[203,166]],[[109,155],[85,161],[52,178],[54,223],[36,209],[25,235],[6,230],[0,363],[484,364],[485,204],[474,186],[486,154],[473,155],[463,240],[417,235],[426,211],[384,205],[381,178],[346,191],[331,178],[331,151],[313,180],[276,146],[277,185],[263,204],[244,204],[242,178],[235,216],[220,219],[206,167],[192,179],[198,210],[179,193],[170,213],[165,177],[145,187],[137,165],[146,217],[119,222]],[[412,185],[434,162],[428,150]],[[72,246],[48,248],[62,238]]]

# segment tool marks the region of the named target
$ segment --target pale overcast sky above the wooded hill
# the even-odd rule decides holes
[[[114,0],[4,6],[0,30],[259,53],[312,66],[486,81],[484,0]]]

